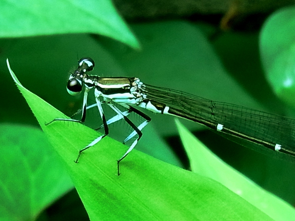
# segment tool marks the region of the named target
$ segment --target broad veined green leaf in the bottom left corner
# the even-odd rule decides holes
[[[39,129],[0,125],[0,220],[35,220],[73,184]]]

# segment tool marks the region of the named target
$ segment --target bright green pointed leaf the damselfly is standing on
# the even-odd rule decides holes
[[[85,151],[75,164],[78,150],[98,134],[71,122],[44,126],[66,116],[24,88],[9,70],[67,165],[90,220],[271,220],[218,182],[136,150],[121,162],[118,176],[116,160],[128,147],[108,137]]]

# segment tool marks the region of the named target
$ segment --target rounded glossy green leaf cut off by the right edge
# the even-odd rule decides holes
[[[295,107],[295,7],[273,13],[260,36],[261,59],[274,92]]]

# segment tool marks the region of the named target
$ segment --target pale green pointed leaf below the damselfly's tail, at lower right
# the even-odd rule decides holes
[[[193,172],[218,181],[276,221],[295,220],[294,207],[224,163],[178,119],[176,123]]]

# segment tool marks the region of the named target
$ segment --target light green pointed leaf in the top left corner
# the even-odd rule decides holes
[[[0,37],[93,33],[139,48],[110,0],[2,0],[0,27]]]

